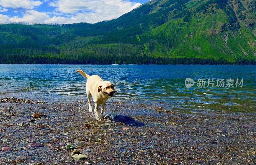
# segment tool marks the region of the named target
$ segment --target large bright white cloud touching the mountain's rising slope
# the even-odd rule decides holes
[[[61,13],[71,14],[65,23],[111,20],[140,6],[126,0],[56,0],[49,4]]]

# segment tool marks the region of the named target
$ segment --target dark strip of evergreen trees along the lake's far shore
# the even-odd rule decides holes
[[[256,65],[253,59],[237,59],[233,62],[225,59],[203,59],[203,58],[161,58],[161,57],[142,57],[142,56],[79,56],[72,57],[58,56],[0,56],[0,64],[156,64],[156,65],[219,65],[219,64],[240,64]]]

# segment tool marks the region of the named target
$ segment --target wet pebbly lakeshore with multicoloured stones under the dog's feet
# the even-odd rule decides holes
[[[108,102],[104,116],[87,103],[2,98],[0,164],[256,163],[255,114]]]

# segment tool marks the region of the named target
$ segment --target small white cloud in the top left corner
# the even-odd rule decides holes
[[[34,0],[0,0],[0,5],[7,8],[13,9],[33,9],[36,6],[41,5],[42,1],[34,1]]]

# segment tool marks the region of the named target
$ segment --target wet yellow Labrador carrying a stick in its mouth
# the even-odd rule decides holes
[[[85,91],[86,91],[86,95],[89,103],[89,112],[92,112],[92,106],[91,106],[91,95],[92,95],[92,99],[94,100],[94,106],[95,106],[96,120],[101,121],[101,119],[99,118],[99,112],[98,112],[98,108],[100,104],[101,104],[100,114],[102,115],[104,112],[106,101],[108,100],[109,97],[113,97],[113,94],[116,93],[117,90],[114,90],[114,85],[112,83],[110,83],[109,81],[103,81],[98,75],[89,76],[85,74],[82,70],[77,70],[76,72],[80,73],[85,78],[87,78]]]

